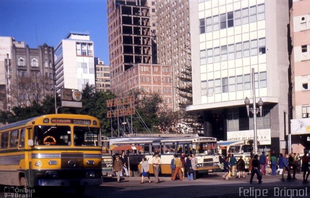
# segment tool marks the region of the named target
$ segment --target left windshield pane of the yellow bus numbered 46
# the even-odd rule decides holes
[[[70,126],[38,125],[34,126],[35,145],[71,145]]]

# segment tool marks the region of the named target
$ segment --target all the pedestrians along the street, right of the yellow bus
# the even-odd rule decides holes
[[[299,154],[291,153],[279,154],[279,157],[273,153],[272,156],[265,155],[262,152],[261,155],[255,154],[250,156],[249,166],[248,166],[248,175],[250,175],[250,183],[253,181],[253,177],[256,174],[258,183],[262,183],[263,175],[281,175],[282,181],[285,181],[284,174],[287,173],[287,180],[294,181],[296,180],[295,174],[303,172],[303,183],[309,183],[308,177],[310,174],[310,156],[308,152],[305,151],[302,157]],[[171,180],[175,181],[179,179],[180,181],[187,177],[188,180],[196,180],[196,170],[197,170],[198,160],[195,157],[195,154],[185,156],[185,153],[182,152],[181,156],[174,155],[171,159]],[[236,178],[246,178],[245,170],[246,165],[242,156],[237,160],[233,154],[229,153],[228,156],[221,156],[220,163],[222,171],[225,172],[222,176],[223,179],[229,180],[231,177]],[[161,165],[161,158],[159,153],[155,153],[153,159],[153,170],[155,175],[155,183],[159,183],[159,168]],[[114,160],[114,171],[117,176],[117,182],[121,182],[121,177],[123,176],[123,170],[126,174],[126,177],[129,176],[128,170],[128,158],[123,152],[122,155],[116,155]],[[148,178],[148,182],[151,183],[150,173],[149,173],[149,163],[146,158],[142,158],[141,163],[141,183],[144,183],[144,177]]]

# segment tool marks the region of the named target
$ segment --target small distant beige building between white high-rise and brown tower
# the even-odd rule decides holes
[[[95,79],[96,79],[96,90],[106,91],[110,90],[110,67],[105,65],[103,61],[95,57]]]

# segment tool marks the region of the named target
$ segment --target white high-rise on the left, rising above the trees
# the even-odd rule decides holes
[[[57,92],[61,88],[82,91],[95,86],[93,41],[88,33],[70,32],[55,48]]]

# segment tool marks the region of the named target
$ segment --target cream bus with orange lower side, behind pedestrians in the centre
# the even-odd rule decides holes
[[[162,174],[171,174],[171,159],[174,154],[180,155],[181,152],[185,152],[186,156],[188,154],[196,154],[198,159],[198,173],[210,173],[220,170],[219,155],[217,153],[217,139],[214,137],[131,138],[128,140],[115,141],[115,144],[131,144],[142,147],[143,150],[138,150],[137,153],[134,153],[133,155],[140,155],[139,158],[144,155],[147,158],[150,164],[150,173],[154,173],[152,159],[155,152],[160,153],[160,172]],[[135,164],[136,166],[138,165],[138,163]]]

